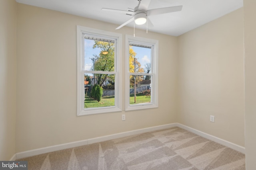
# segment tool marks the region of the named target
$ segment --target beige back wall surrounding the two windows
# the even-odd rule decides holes
[[[78,117],[76,25],[112,32],[117,25],[17,6],[16,152],[177,122],[177,37],[136,30],[138,37],[159,40],[159,108]],[[122,33],[125,49],[125,34],[133,35],[133,29],[116,32]]]

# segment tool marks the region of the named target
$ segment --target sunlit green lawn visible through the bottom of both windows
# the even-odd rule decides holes
[[[136,94],[136,103],[134,103],[134,94],[130,94],[130,104],[141,104],[141,103],[150,103],[150,96],[145,96],[143,93]],[[100,102],[85,96],[84,99],[84,108],[93,108],[93,107],[106,107],[106,106],[115,106],[114,96],[102,97]]]

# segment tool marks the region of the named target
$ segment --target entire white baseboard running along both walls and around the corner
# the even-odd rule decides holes
[[[212,141],[220,143],[220,144],[222,144],[226,147],[230,147],[234,150],[245,153],[245,148],[244,147],[241,147],[241,146],[236,145],[234,143],[230,143],[228,141],[225,141],[225,140],[220,139],[218,137],[214,137],[214,136],[209,135],[207,133],[204,133],[204,132],[198,131],[196,129],[190,128],[188,126],[182,125],[180,123],[171,123],[171,124],[166,124],[166,125],[148,127],[148,128],[144,128],[144,129],[137,129],[137,130],[134,130],[134,131],[127,131],[127,132],[123,132],[123,133],[116,133],[116,134],[113,134],[113,135],[107,135],[107,136],[103,136],[103,137],[86,139],[86,140],[82,140],[82,141],[76,141],[76,142],[72,142],[72,143],[64,143],[64,144],[61,144],[61,145],[54,145],[54,146],[44,147],[44,148],[40,148],[40,149],[28,150],[28,151],[25,151],[25,152],[16,153],[16,155],[13,156],[13,158],[14,159],[26,158],[26,157],[29,157],[29,156],[35,156],[35,155],[38,155],[38,154],[44,154],[44,153],[53,152],[53,151],[56,151],[56,150],[79,147],[79,146],[82,146],[82,145],[89,145],[89,144],[92,144],[92,143],[108,141],[108,140],[117,139],[117,138],[120,138],[120,137],[127,137],[127,136],[130,136],[130,135],[138,135],[140,133],[146,133],[146,132],[150,132],[150,131],[167,129],[167,128],[171,128],[171,127],[180,127],[182,129],[186,129],[187,131],[190,131],[192,133],[195,133],[197,135],[205,137],[206,139],[212,140]]]

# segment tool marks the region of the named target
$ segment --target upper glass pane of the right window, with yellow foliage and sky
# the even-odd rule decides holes
[[[151,73],[151,48],[130,45],[129,71]]]

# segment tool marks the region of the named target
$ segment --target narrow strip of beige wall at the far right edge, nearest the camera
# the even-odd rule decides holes
[[[256,1],[244,0],[246,169],[256,167]]]

